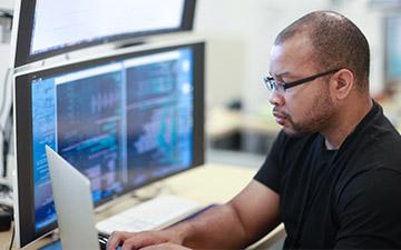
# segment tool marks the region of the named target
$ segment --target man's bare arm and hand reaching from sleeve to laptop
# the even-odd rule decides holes
[[[108,248],[123,250],[172,242],[189,248],[244,248],[278,223],[280,197],[253,180],[226,204],[216,206],[175,227],[150,232],[114,232]]]

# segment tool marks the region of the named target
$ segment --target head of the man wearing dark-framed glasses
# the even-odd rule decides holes
[[[353,97],[369,96],[369,44],[360,29],[331,11],[309,13],[285,28],[271,54],[275,82],[320,76],[271,96],[274,116],[290,134],[322,132]]]

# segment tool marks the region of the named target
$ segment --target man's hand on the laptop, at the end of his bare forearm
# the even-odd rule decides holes
[[[168,244],[165,244],[168,243]],[[168,231],[145,231],[145,232],[121,232],[115,231],[107,241],[107,249],[115,250],[118,246],[123,246],[121,250],[143,249],[162,249],[160,246],[169,247],[167,249],[186,249],[177,248],[182,243],[177,233]]]

